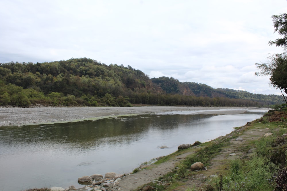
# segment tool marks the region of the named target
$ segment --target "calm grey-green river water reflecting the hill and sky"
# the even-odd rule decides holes
[[[260,118],[168,112],[49,125],[0,127],[0,191],[74,185],[81,176],[127,173],[141,163],[205,142]],[[168,148],[160,149],[165,145]]]

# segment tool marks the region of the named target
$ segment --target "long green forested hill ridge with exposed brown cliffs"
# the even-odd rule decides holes
[[[102,64],[89,58],[43,63],[0,63],[0,106],[189,105],[261,107],[282,96],[252,94],[206,84],[150,79],[131,66]]]

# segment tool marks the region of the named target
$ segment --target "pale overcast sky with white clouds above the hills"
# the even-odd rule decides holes
[[[255,76],[286,0],[1,0],[0,63],[91,58],[212,88],[278,94]]]

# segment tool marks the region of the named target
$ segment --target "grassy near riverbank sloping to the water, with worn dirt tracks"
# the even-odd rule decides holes
[[[273,190],[278,167],[269,159],[274,157],[274,150],[284,147],[282,140],[287,140],[284,138],[287,130],[286,123],[280,121],[282,117],[286,119],[286,114],[269,116],[238,127],[226,136],[176,151],[155,164],[142,165],[138,172],[105,189],[195,191],[222,186],[223,190]],[[279,120],[269,122],[274,119]],[[278,141],[280,144],[274,144]],[[194,161],[203,162],[207,170],[191,171],[188,163]],[[232,177],[234,173],[236,176]]]

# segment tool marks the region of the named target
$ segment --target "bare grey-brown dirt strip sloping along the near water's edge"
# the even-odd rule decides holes
[[[193,150],[194,149],[189,149],[188,151],[183,150],[177,153],[177,155],[172,157],[170,160],[158,165],[152,164],[141,166],[141,170],[139,172],[126,176],[123,178],[123,180],[119,181],[117,185],[115,185],[113,188],[110,188],[109,190],[116,191],[121,188],[123,191],[130,191],[136,189],[139,186],[147,184],[148,182],[152,182],[160,176],[163,176],[164,174],[172,171],[175,164],[183,160],[187,155],[194,153]]]

